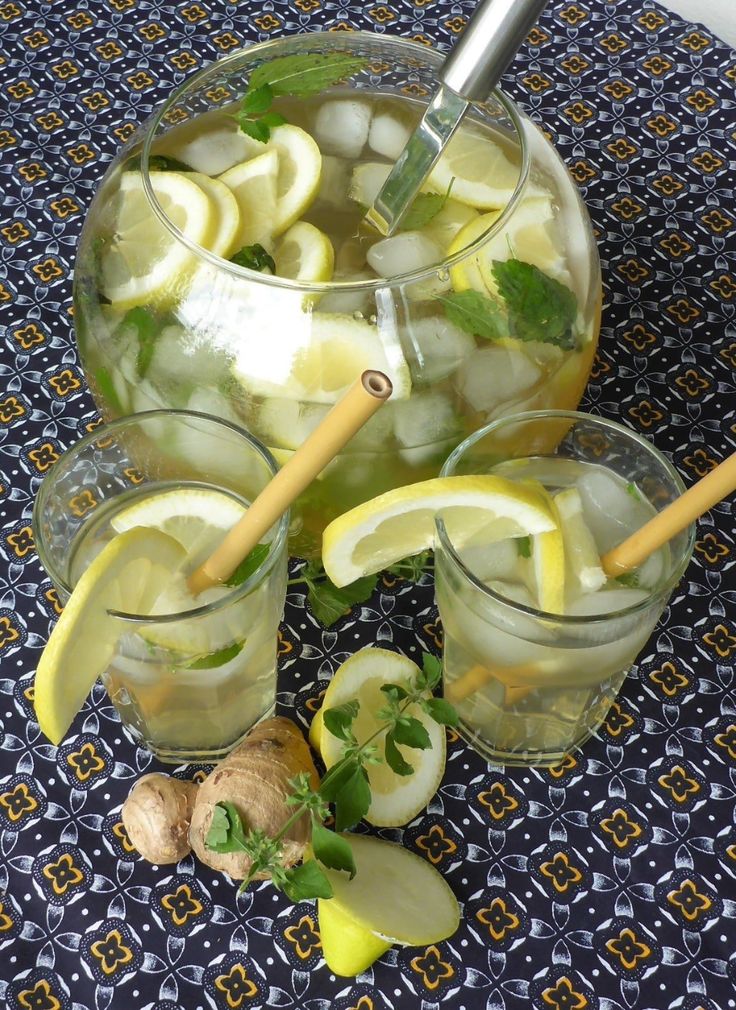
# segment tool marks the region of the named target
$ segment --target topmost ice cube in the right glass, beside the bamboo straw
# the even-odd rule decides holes
[[[629,493],[622,479],[604,467],[590,467],[579,478],[577,490],[599,554],[617,546],[654,514],[635,488]]]

